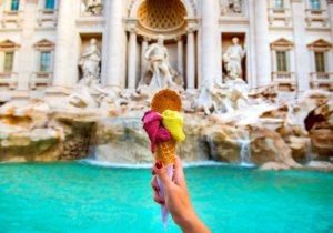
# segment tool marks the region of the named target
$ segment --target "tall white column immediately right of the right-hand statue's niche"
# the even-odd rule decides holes
[[[256,88],[264,88],[271,84],[271,55],[266,0],[255,0],[254,16]]]

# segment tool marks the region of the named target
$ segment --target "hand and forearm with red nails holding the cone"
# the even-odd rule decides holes
[[[151,180],[153,188],[153,200],[159,204],[165,204],[173,221],[183,232],[188,233],[206,233],[210,230],[196,216],[194,207],[192,206],[185,175],[180,158],[175,158],[173,165],[172,180],[169,178],[165,168],[161,162],[157,162],[152,169],[154,175]],[[159,194],[158,179],[159,176],[164,188],[164,200]]]

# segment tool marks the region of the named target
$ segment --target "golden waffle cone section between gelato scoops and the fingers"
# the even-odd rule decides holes
[[[175,160],[175,141],[173,139],[157,144],[155,161],[161,161],[164,166],[173,164]]]

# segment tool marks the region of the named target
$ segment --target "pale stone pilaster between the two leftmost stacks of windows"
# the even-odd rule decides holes
[[[22,2],[23,3],[23,2]],[[33,36],[34,36],[34,23],[37,16],[37,1],[27,0],[23,9],[23,24],[22,24],[22,43],[19,57],[18,65],[18,90],[29,90],[29,82],[32,73],[36,71],[34,62],[36,58],[33,49]]]

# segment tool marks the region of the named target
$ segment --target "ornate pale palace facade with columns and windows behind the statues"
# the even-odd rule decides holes
[[[101,87],[134,90],[159,34],[185,89],[223,82],[236,37],[252,91],[333,90],[332,0],[2,0],[0,101],[72,90],[91,39]]]

